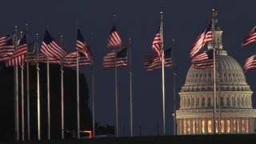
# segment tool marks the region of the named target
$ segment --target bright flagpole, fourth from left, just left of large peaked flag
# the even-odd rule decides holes
[[[40,118],[40,78],[39,78],[39,62],[38,62],[38,34],[36,34],[36,45],[37,45],[37,93],[38,93],[38,140],[41,140],[41,118]]]

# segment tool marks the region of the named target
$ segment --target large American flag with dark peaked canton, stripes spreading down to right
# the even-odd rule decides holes
[[[42,41],[41,52],[42,54],[45,54],[47,58],[55,59],[62,59],[66,55],[66,52],[62,50],[62,48],[58,46],[56,42],[54,42],[54,38],[51,37],[48,30],[46,30],[46,33]]]

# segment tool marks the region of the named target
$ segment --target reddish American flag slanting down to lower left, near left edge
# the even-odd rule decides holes
[[[24,66],[27,54],[26,35],[22,37],[14,53],[6,60],[6,66]]]

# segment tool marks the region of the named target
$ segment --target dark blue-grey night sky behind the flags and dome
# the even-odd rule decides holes
[[[35,33],[40,38],[49,26],[50,33],[58,39],[64,35],[64,49],[74,50],[76,23],[82,29],[87,42],[93,46],[96,69],[96,119],[100,124],[115,124],[114,70],[102,70],[102,57],[106,54],[106,40],[113,14],[122,41],[126,45],[132,38],[132,58],[134,68],[134,134],[138,135],[138,126],[142,134],[157,134],[158,124],[162,127],[161,71],[147,72],[142,58],[152,54],[151,42],[159,25],[159,12],[164,13],[165,47],[171,46],[176,39],[177,69],[179,91],[190,66],[189,51],[195,38],[210,21],[211,9],[218,8],[218,26],[223,32],[223,46],[228,54],[242,65],[247,57],[254,54],[255,45],[242,50],[242,38],[256,23],[256,2],[254,0],[8,0],[1,4],[2,22],[0,34],[10,34],[14,26],[24,30],[25,23],[30,26],[30,41]],[[92,40],[91,37],[94,37]],[[90,69],[82,68],[90,78]],[[247,80],[253,90],[254,73],[250,71]],[[128,70],[119,70],[119,123],[125,129],[121,134],[129,134],[129,77]],[[68,83],[68,82],[66,82]],[[166,70],[166,132],[172,134],[172,78],[171,70]],[[254,98],[255,99],[255,98]],[[75,105],[75,103],[74,103]],[[124,132],[124,133],[123,133]]]

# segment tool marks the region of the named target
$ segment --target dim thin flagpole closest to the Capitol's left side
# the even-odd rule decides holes
[[[175,59],[174,59],[174,39],[173,39],[173,47],[172,47],[172,49],[171,49],[171,59],[172,59],[172,68],[173,68],[173,85],[174,85],[174,87],[173,87],[173,89],[174,89],[174,95],[173,95],[173,97],[174,97],[174,135],[176,135],[176,131],[177,131],[177,124],[176,124],[176,75],[177,75],[177,73],[176,73],[176,70],[175,70],[175,68],[176,68],[176,65],[175,65]]]

